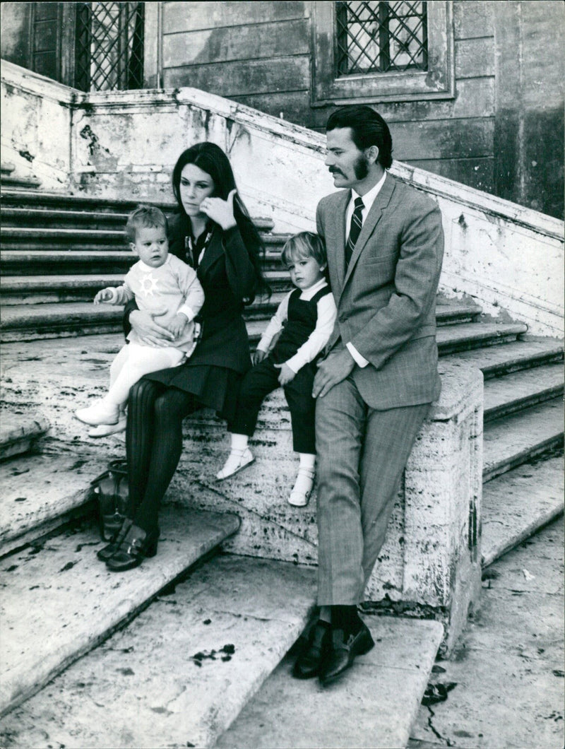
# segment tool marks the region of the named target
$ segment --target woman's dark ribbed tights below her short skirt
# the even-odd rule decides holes
[[[191,393],[152,380],[139,380],[129,391],[128,515],[146,533],[158,528],[159,505],[183,449],[183,419],[197,408]]]

